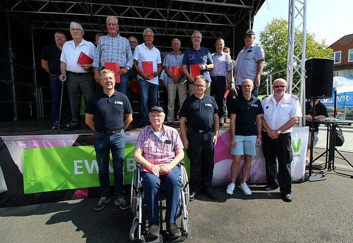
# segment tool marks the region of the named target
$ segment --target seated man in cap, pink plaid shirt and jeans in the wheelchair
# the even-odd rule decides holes
[[[181,236],[177,220],[181,189],[181,169],[184,158],[183,143],[176,129],[163,125],[161,107],[150,110],[152,125],[141,130],[135,146],[135,161],[142,166],[142,187],[149,222],[147,237],[159,236],[158,194],[163,183],[166,193],[165,222],[169,238]]]

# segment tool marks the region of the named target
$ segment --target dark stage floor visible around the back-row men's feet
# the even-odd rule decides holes
[[[81,116],[81,129],[73,130],[73,131],[65,131],[66,120],[64,119],[60,129],[60,134],[87,134],[92,133],[92,130],[85,124],[84,116]],[[229,129],[229,119],[227,119],[228,123],[224,123],[223,126],[220,127],[222,130]],[[31,119],[31,120],[21,120],[21,121],[12,121],[12,122],[1,122],[0,123],[0,136],[21,136],[21,135],[50,135],[50,134],[58,134],[57,129],[51,129],[52,121],[50,117],[45,117],[41,119]],[[129,127],[126,132],[139,132],[142,129],[142,125],[139,123],[138,118],[134,117],[134,120],[131,123],[131,127]],[[180,122],[175,121],[174,124],[171,125],[175,129],[180,129]]]

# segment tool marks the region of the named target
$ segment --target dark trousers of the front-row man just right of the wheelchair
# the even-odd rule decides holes
[[[189,147],[187,154],[190,159],[190,191],[199,192],[201,187],[212,188],[214,168],[214,132],[188,132]]]

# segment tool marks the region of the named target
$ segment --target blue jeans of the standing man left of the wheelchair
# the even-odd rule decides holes
[[[123,195],[124,182],[124,157],[125,157],[125,133],[105,134],[94,132],[94,149],[98,163],[98,176],[100,183],[100,195],[109,196],[109,158],[110,151],[114,170],[114,198]]]

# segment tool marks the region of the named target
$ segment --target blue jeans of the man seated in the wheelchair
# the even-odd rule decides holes
[[[150,223],[159,220],[158,194],[160,188],[165,188],[166,209],[165,222],[168,224],[177,221],[180,188],[182,185],[181,169],[175,166],[171,172],[156,177],[152,173],[142,172],[142,187],[145,194],[147,220]]]

